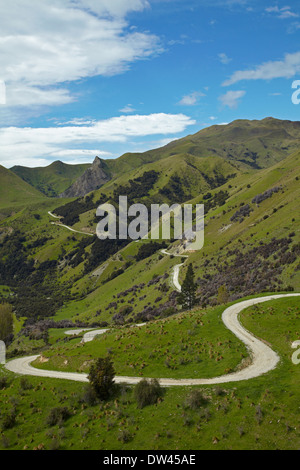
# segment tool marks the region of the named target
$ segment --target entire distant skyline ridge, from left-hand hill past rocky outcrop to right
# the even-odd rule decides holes
[[[65,195],[74,196],[82,195],[82,191],[86,194],[96,190],[102,180],[104,183],[112,179],[114,184],[120,178],[129,181],[135,171],[145,171],[149,165],[154,169],[166,167],[167,164],[173,168],[178,158],[184,158],[185,161],[189,159],[197,168],[201,165],[197,160],[211,158],[221,165],[220,159],[225,160],[235,170],[269,168],[297,150],[299,144],[299,122],[273,118],[261,121],[237,120],[228,125],[211,126],[162,148],[144,153],[126,153],[113,160],[100,160],[104,173],[97,178],[86,173],[86,178],[82,180],[85,170],[90,170],[92,165],[66,165],[61,162],[54,162],[46,168],[14,167],[12,171],[48,196],[58,196],[66,189],[69,192]],[[74,183],[76,190],[72,186]]]

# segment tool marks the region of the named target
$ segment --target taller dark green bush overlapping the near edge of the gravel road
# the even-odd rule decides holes
[[[88,379],[100,400],[107,400],[112,394],[114,377],[115,370],[109,357],[99,358],[91,366]]]

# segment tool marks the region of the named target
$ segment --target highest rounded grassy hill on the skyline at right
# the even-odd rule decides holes
[[[241,168],[267,168],[299,148],[300,122],[266,118],[261,121],[237,120],[228,125],[214,125],[175,140],[165,147],[140,154],[127,153],[116,160],[106,160],[111,174],[138,168],[173,155],[221,157]]]

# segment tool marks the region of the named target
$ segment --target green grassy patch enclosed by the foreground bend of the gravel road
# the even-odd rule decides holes
[[[224,307],[195,310],[134,328],[113,330],[94,341],[58,342],[36,366],[87,372],[95,357],[110,354],[117,375],[211,378],[234,370],[248,357],[246,348],[221,320]],[[139,345],[143,345],[140,347]]]

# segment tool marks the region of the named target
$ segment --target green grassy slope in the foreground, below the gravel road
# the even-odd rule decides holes
[[[135,388],[97,403],[83,384],[0,369],[0,448],[298,449],[300,366],[291,342],[299,339],[299,300],[252,307],[242,322],[280,354],[276,370],[241,383],[167,388],[142,410]]]

